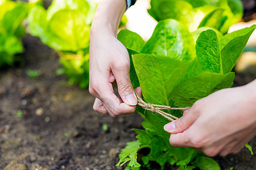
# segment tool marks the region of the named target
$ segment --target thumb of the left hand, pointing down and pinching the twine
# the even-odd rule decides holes
[[[137,97],[131,84],[130,65],[114,67],[112,70],[117,81],[118,93],[124,103],[130,106],[137,105]]]

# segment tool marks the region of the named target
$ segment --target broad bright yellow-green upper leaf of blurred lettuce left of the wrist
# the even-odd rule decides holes
[[[31,35],[39,36],[44,44],[59,51],[77,52],[87,48],[92,22],[90,15],[96,7],[89,4],[93,3],[65,0],[53,1],[47,11],[40,6],[33,8],[28,16]]]

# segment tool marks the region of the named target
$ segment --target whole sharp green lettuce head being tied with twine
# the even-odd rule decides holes
[[[131,80],[134,88],[141,86],[147,103],[170,107],[191,107],[199,100],[233,84],[230,72],[240,57],[255,25],[222,35],[213,28],[201,28],[190,33],[184,24],[166,19],[156,25],[146,43],[131,31],[121,31],[118,39],[131,56]],[[196,41],[194,40],[196,39]],[[133,42],[137,42],[134,45]],[[144,117],[144,130],[138,130],[138,141],[127,143],[117,165],[127,163],[139,169],[137,152],[150,148],[141,163],[155,161],[164,168],[166,163],[179,169],[220,169],[212,159],[192,148],[176,148],[169,143],[170,134],[163,126],[168,120],[150,111],[138,110]],[[168,111],[181,117],[180,111]]]

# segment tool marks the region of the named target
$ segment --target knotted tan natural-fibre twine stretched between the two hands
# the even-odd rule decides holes
[[[161,116],[167,118],[170,121],[174,121],[176,119],[178,119],[177,117],[173,116],[172,114],[163,112],[161,110],[181,110],[181,111],[185,111],[185,110],[189,110],[190,107],[186,107],[186,108],[171,108],[168,105],[158,105],[158,104],[150,104],[150,103],[146,103],[144,102],[141,97],[139,97],[139,95],[137,94],[137,92],[135,92],[135,95],[137,97],[138,100],[138,105],[140,107],[142,107],[143,109],[146,109],[147,111],[151,111],[153,113],[159,113]]]

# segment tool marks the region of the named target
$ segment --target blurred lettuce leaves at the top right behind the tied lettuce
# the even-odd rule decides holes
[[[243,16],[240,0],[151,0],[148,13],[155,20],[175,19],[190,32],[200,27],[212,27],[222,34]]]

